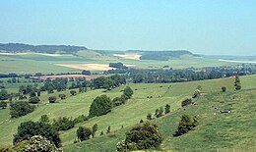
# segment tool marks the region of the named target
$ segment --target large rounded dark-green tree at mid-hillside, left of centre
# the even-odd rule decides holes
[[[90,106],[89,117],[101,116],[111,111],[111,100],[106,95],[97,96]]]

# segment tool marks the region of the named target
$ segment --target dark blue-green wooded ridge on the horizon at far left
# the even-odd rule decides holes
[[[71,45],[30,45],[23,43],[0,43],[2,52],[43,52],[43,53],[76,53],[80,50],[87,50],[84,46]]]

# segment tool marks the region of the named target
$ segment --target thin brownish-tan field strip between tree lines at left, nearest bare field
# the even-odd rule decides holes
[[[70,77],[86,77],[86,79],[94,79],[98,76],[85,76],[85,75],[60,75],[60,76],[32,76],[32,78],[38,78],[38,79],[55,79],[55,78],[70,78]]]

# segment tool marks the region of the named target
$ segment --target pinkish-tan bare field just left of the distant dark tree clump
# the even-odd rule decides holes
[[[74,68],[79,70],[88,70],[88,71],[108,71],[114,68],[108,67],[108,65],[103,64],[55,64],[57,66]]]

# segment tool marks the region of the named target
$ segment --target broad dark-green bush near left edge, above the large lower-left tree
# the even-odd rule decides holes
[[[25,116],[29,113],[32,113],[35,106],[30,105],[28,102],[25,101],[18,101],[15,103],[10,104],[10,115],[11,118],[18,118]]]

